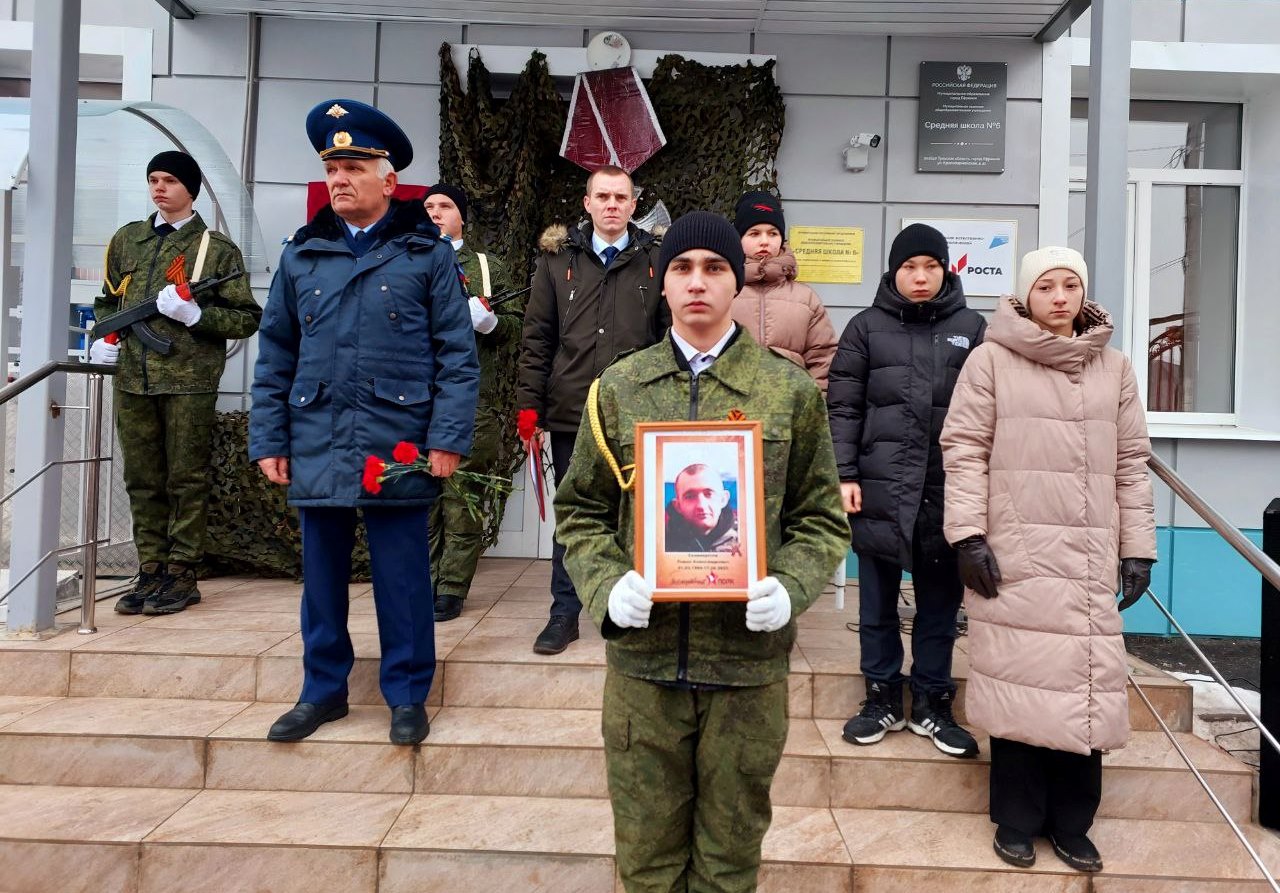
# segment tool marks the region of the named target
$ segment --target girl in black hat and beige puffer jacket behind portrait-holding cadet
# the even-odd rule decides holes
[[[836,329],[818,293],[796,281],[796,258],[786,249],[782,202],[768,192],[748,192],[737,200],[733,226],[746,253],[746,278],[733,298],[733,321],[763,347],[808,371],[826,394]]]

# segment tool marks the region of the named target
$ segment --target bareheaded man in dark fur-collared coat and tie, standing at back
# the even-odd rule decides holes
[[[550,434],[557,484],[568,472],[586,389],[613,360],[649,347],[671,325],[654,279],[658,241],[630,223],[636,207],[631,177],[600,168],[586,180],[589,223],[543,233],[543,255],[525,310],[516,406],[538,413]],[[536,436],[536,435],[535,435]],[[582,603],[564,571],[564,548],[552,548],[552,609],[534,651],[559,654],[577,638]]]

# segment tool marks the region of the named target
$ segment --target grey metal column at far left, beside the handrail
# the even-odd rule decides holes
[[[31,155],[27,188],[27,244],[23,264],[22,372],[67,358],[68,290],[72,278],[72,217],[76,203],[76,100],[79,82],[81,0],[35,4],[31,49]],[[63,458],[67,384],[46,379],[18,398],[15,481]],[[59,548],[61,468],[52,467],[14,496],[10,580],[41,563],[9,596],[10,631],[54,624]]]

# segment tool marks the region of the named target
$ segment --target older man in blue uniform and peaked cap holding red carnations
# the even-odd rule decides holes
[[[390,739],[429,731],[435,672],[428,514],[471,448],[480,366],[453,248],[419,201],[392,198],[408,138],[372,106],[328,100],[307,115],[330,205],[280,256],[259,335],[250,458],[289,486],[302,528],[303,683],[268,733],[300,741],[347,715],[356,509],[369,535]],[[367,457],[406,440],[433,475],[362,486]]]

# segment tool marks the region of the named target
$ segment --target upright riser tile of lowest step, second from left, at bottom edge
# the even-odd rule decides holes
[[[378,853],[323,847],[146,843],[141,875],[140,893],[374,893]]]

